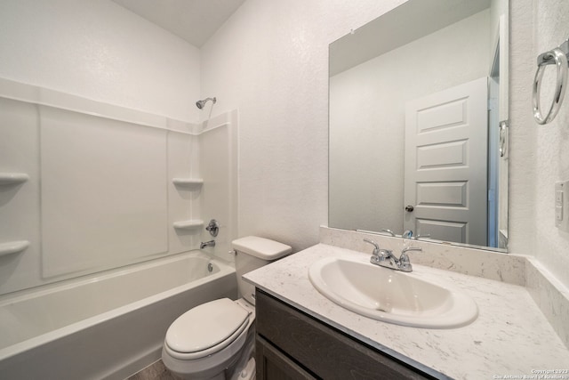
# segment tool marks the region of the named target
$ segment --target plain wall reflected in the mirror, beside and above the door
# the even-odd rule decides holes
[[[479,12],[330,78],[331,227],[403,233],[405,102],[487,77],[489,16]]]

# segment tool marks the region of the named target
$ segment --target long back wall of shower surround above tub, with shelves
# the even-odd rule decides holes
[[[0,295],[198,248],[199,133],[0,78]]]

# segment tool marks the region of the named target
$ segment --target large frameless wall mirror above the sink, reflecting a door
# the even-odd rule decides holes
[[[330,44],[330,227],[507,249],[508,7],[409,0]]]

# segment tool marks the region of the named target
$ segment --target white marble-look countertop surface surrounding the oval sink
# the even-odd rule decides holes
[[[453,329],[403,327],[360,316],[318,293],[309,281],[309,266],[332,256],[367,262],[370,255],[318,244],[249,272],[244,279],[349,336],[440,378],[540,378],[539,371],[569,369],[569,350],[525,287],[413,265],[418,276],[436,275],[470,295],[477,303],[478,318]],[[559,378],[569,379],[569,374],[563,376]]]

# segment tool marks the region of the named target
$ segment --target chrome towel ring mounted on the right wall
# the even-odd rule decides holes
[[[535,117],[535,120],[540,125],[547,124],[553,120],[561,107],[561,103],[565,97],[565,87],[567,85],[568,56],[569,39],[555,49],[542,53],[537,57],[537,72],[533,79],[533,117]],[[555,65],[557,68],[557,84],[551,106],[547,114],[543,116],[540,103],[541,77],[543,77],[543,72],[548,65]]]

